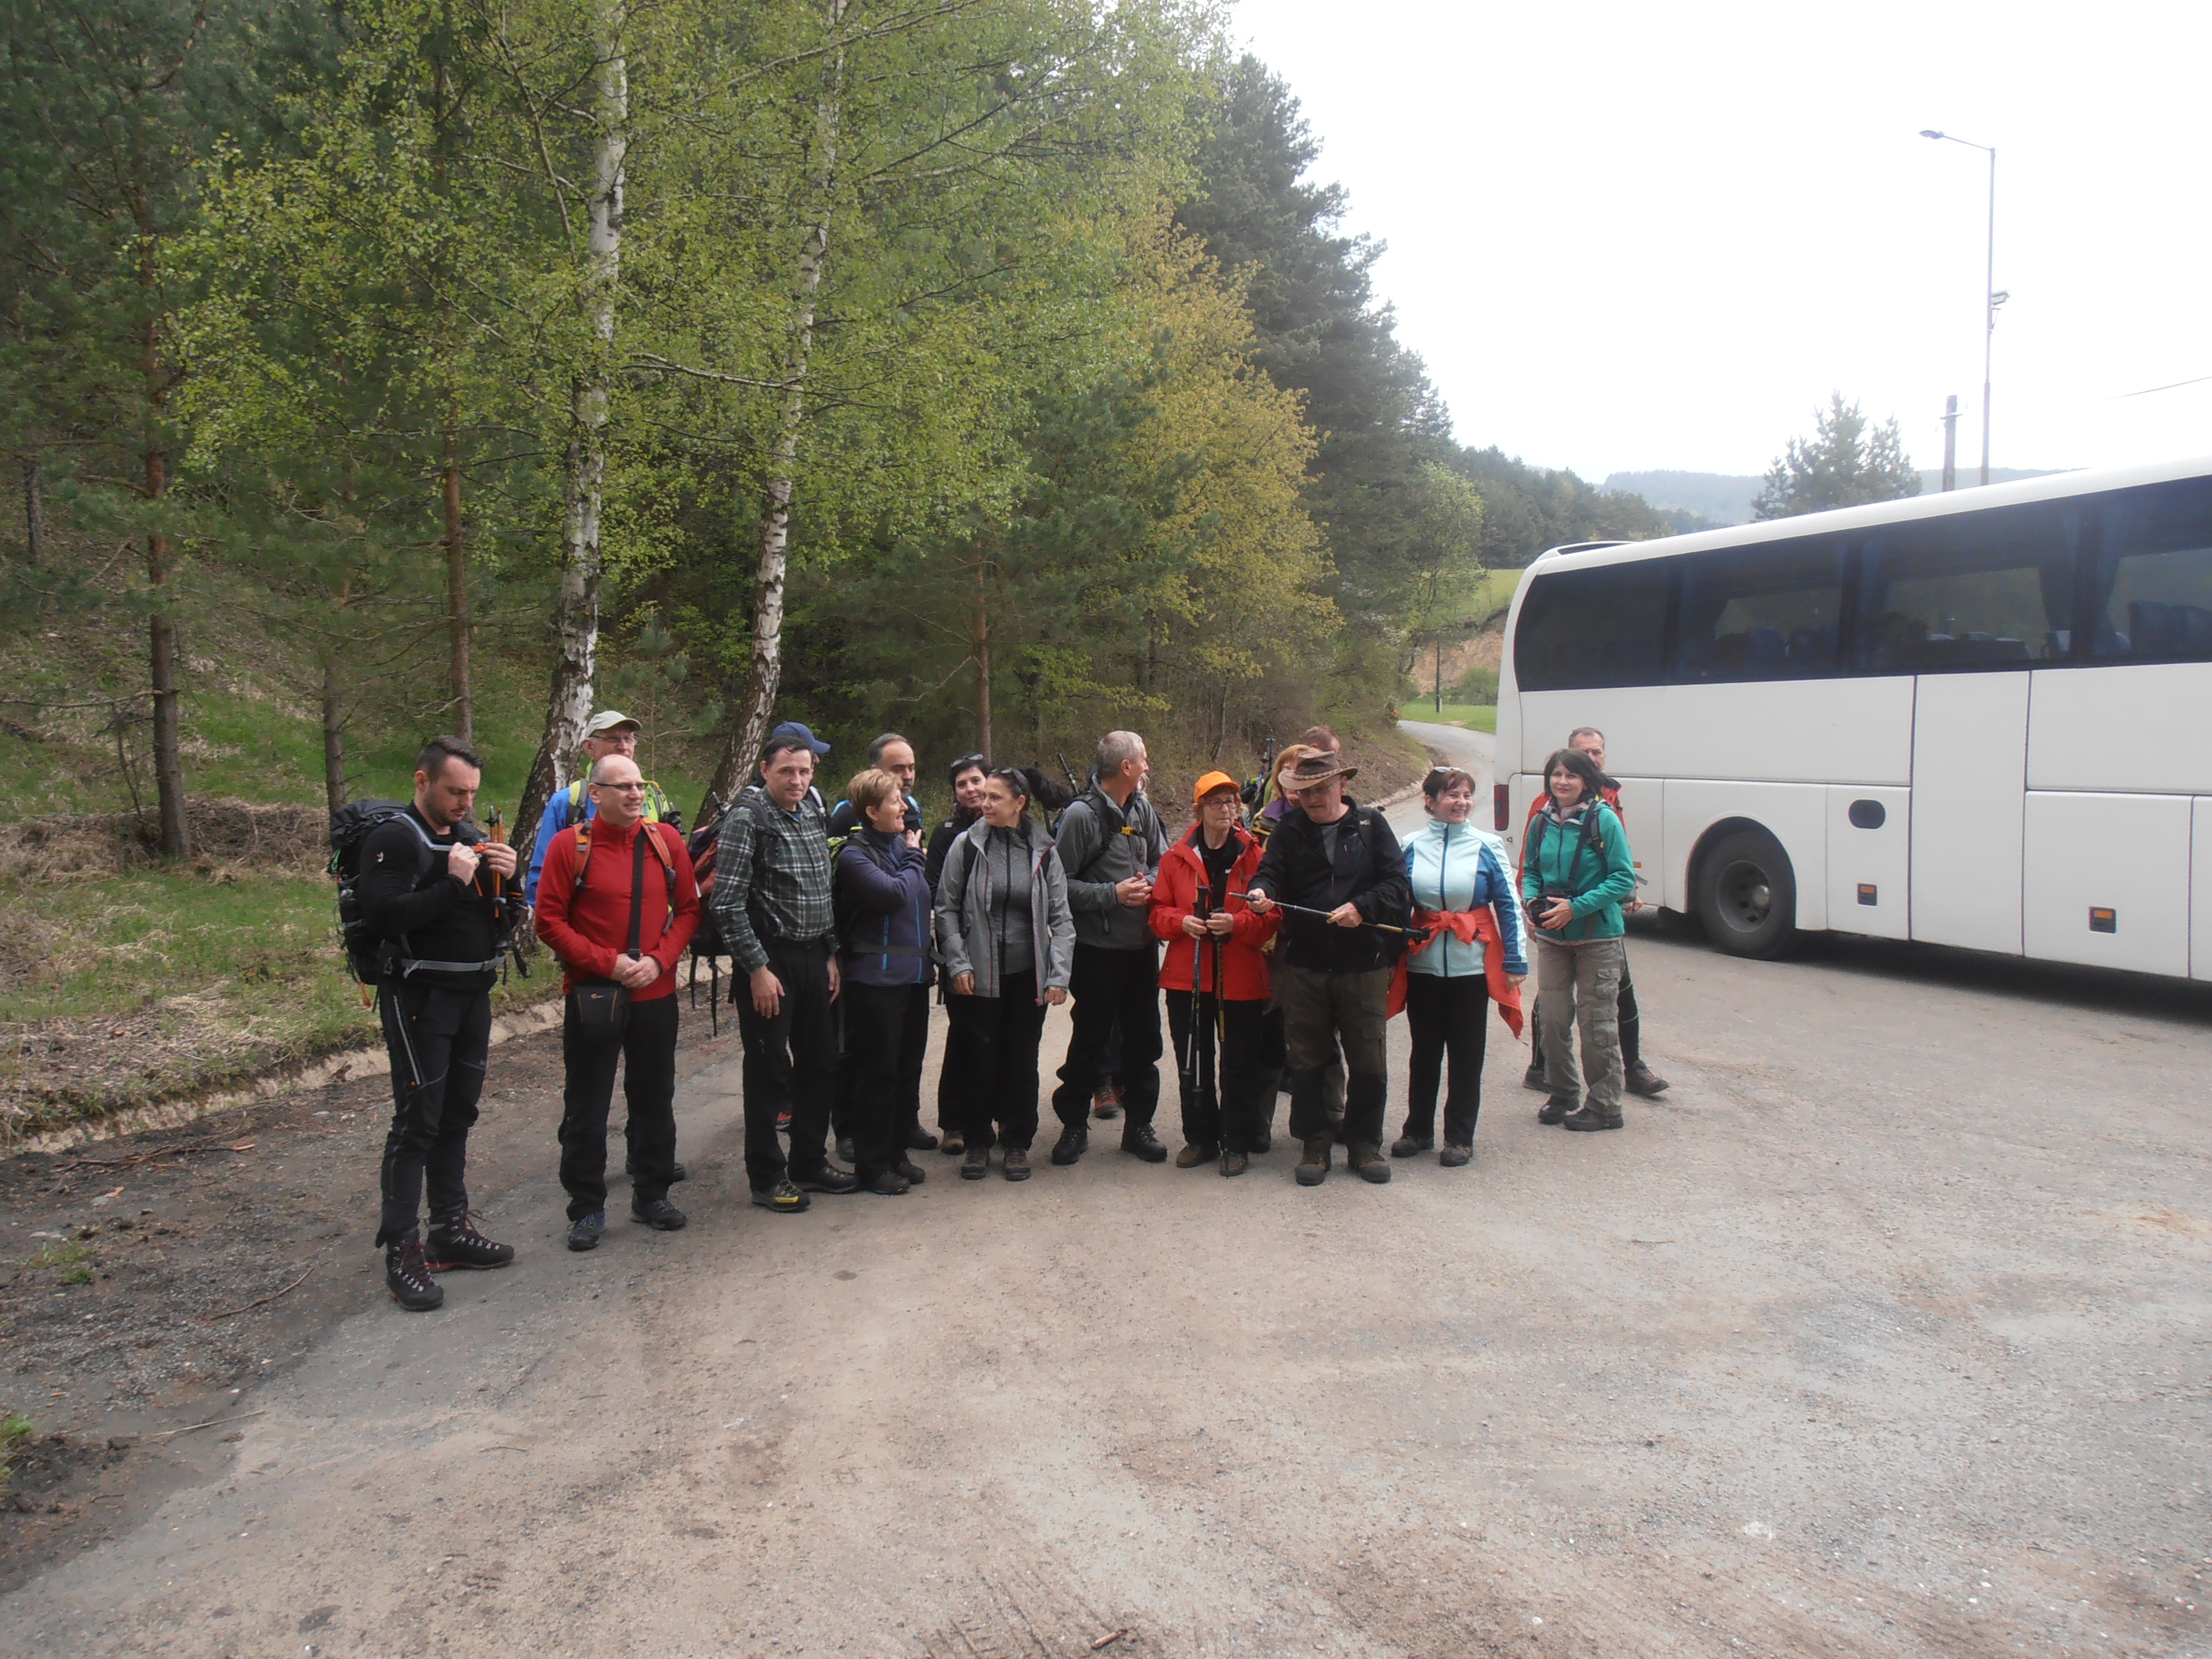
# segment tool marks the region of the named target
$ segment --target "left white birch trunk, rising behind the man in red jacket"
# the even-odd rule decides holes
[[[546,695],[546,728],[522,787],[515,834],[538,834],[538,818],[555,792],[568,787],[568,770],[584,723],[591,719],[593,679],[599,664],[599,509],[606,495],[606,411],[615,352],[615,299],[622,292],[622,186],[630,150],[630,69],[624,58],[628,13],[619,4],[599,11],[597,124],[591,228],[586,232],[584,303],[591,314],[593,356],[577,376],[568,403],[566,538],[560,602],[553,608],[553,686]]]

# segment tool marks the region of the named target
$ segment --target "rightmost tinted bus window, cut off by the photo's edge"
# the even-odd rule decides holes
[[[2104,498],[2090,564],[2090,657],[2212,661],[2212,480]]]

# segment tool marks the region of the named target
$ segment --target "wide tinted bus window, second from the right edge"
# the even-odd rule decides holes
[[[2051,502],[1867,533],[1854,666],[1929,675],[2073,661],[2079,524],[2079,502]]]

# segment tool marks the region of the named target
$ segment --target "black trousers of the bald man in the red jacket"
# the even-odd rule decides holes
[[[586,1042],[575,1020],[575,993],[560,1029],[560,1183],[568,1219],[606,1208],[606,1110],[615,1099],[622,1062],[622,1099],[630,1108],[626,1133],[630,1203],[668,1197],[677,1161],[677,1000],[633,1002],[617,1042]]]

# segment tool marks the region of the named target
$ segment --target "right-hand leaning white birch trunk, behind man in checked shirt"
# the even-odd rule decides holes
[[[845,4],[847,0],[830,0],[832,35],[845,24]],[[737,794],[761,754],[761,741],[768,737],[776,708],[776,684],[783,679],[783,577],[790,562],[792,478],[799,471],[799,431],[805,425],[807,363],[814,356],[814,296],[830,257],[830,210],[836,197],[836,146],[843,111],[845,49],[838,46],[823,71],[823,91],[814,102],[814,223],[799,248],[799,276],[792,283],[783,409],[770,451],[765,511],[761,513],[761,562],[752,577],[752,664],[745,670],[745,692],[737,703],[737,723],[730,728],[730,748],[723,752],[712,783],[714,794],[723,801]],[[706,816],[703,801],[699,814]]]

